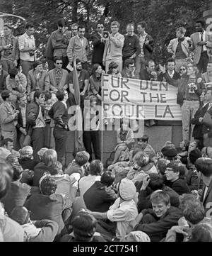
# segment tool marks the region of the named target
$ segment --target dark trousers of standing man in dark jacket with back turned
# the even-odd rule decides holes
[[[66,139],[67,130],[64,128],[55,127],[53,131],[55,140],[55,150],[57,152],[57,159],[62,165],[65,164],[65,153],[66,153]]]

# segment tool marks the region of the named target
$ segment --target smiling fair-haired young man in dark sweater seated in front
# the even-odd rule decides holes
[[[151,194],[152,209],[144,209],[136,217],[132,224],[134,230],[146,233],[151,242],[159,242],[172,226],[182,217],[179,208],[170,206],[170,196],[164,191],[158,190]]]

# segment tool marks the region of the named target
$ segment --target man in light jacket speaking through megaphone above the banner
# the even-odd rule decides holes
[[[120,24],[117,21],[111,23],[111,34],[108,34],[105,43],[105,50],[103,55],[103,65],[105,71],[109,69],[110,62],[116,62],[119,65],[119,72],[122,72],[122,48],[124,46],[124,35],[119,33]]]

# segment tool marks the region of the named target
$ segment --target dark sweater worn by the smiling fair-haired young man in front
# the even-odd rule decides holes
[[[160,242],[160,240],[165,238],[167,231],[172,226],[176,226],[177,221],[182,217],[182,212],[179,208],[173,206],[167,210],[162,218],[155,216],[153,209],[144,209],[141,212],[143,216],[151,214],[155,218],[155,222],[145,224],[141,221],[141,223],[135,226],[134,230],[141,230],[146,233],[151,238],[151,242]]]

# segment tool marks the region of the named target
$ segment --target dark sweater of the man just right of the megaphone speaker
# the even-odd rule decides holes
[[[124,46],[122,50],[123,57],[131,57],[136,53],[136,56],[141,52],[141,45],[138,35],[124,35]]]

